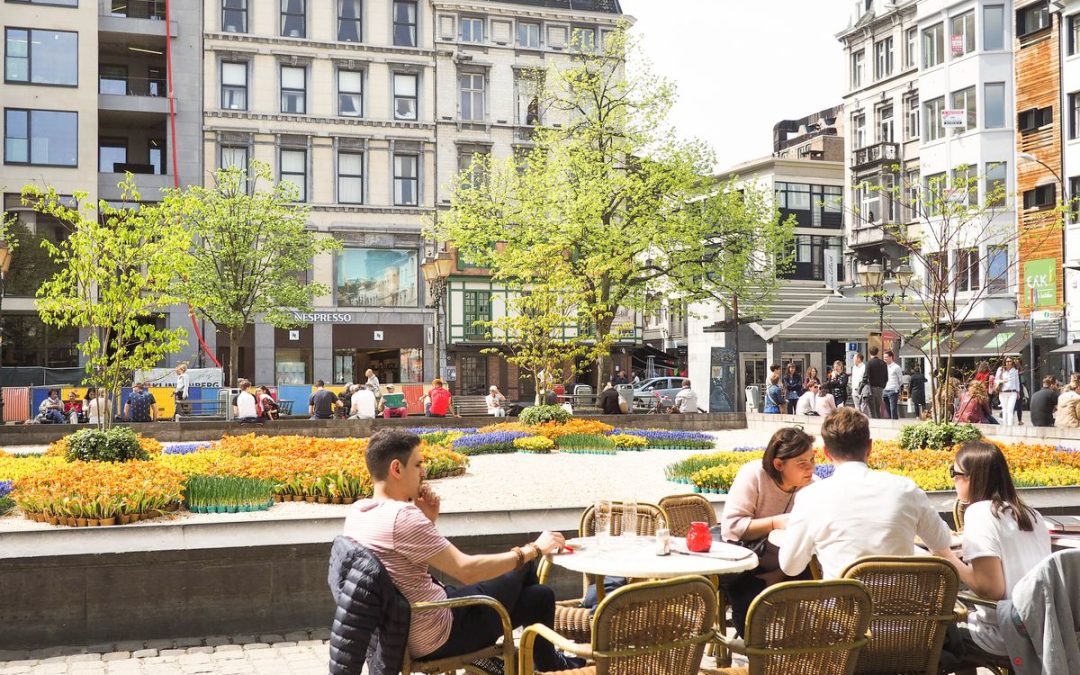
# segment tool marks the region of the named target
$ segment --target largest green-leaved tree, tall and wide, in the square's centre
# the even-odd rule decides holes
[[[617,310],[640,312],[650,291],[766,303],[793,235],[771,195],[714,184],[712,151],[676,139],[667,123],[675,89],[624,29],[600,51],[576,33],[571,52],[565,67],[532,75],[531,151],[476,156],[430,233],[511,286],[554,273],[602,343],[619,329]]]

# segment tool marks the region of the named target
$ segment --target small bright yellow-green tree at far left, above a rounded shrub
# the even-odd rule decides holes
[[[37,291],[38,311],[46,324],[85,332],[79,351],[86,357],[85,382],[119,401],[120,389],[135,370],[157,366],[184,349],[183,327],[159,328],[157,320],[170,305],[185,301],[181,280],[191,258],[191,238],[154,206],[139,202],[135,180],[120,184],[119,206],[104,200],[86,204],[60,198],[52,187],[23,189],[24,203],[66,224],[60,243],[41,245],[56,272]],[[111,415],[103,424],[111,424]]]

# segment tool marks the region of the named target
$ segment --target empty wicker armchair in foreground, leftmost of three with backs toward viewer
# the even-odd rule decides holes
[[[676,577],[625,585],[596,608],[592,639],[575,644],[542,624],[522,633],[518,673],[532,675],[538,637],[593,665],[567,675],[697,675],[705,643],[713,639],[716,591],[704,577]]]

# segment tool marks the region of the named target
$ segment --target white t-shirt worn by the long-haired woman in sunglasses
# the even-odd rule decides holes
[[[1021,577],[1050,555],[1047,522],[1038,513],[1032,519],[1031,531],[1022,531],[1009,508],[995,516],[990,501],[975,502],[963,513],[963,559],[971,563],[981,557],[999,558],[1008,598],[1012,598],[1013,588]],[[980,605],[968,615],[968,626],[971,638],[984,650],[1000,656],[1007,653],[996,609]]]

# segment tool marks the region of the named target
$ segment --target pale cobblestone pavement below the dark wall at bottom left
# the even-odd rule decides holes
[[[0,651],[0,675],[326,675],[327,631]]]

